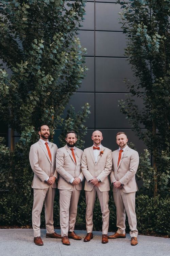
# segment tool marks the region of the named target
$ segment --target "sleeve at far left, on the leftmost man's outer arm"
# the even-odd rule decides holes
[[[32,145],[30,148],[29,159],[30,159],[30,165],[33,172],[38,176],[38,178],[41,181],[45,181],[48,178],[48,175],[39,167],[38,150],[34,145]]]

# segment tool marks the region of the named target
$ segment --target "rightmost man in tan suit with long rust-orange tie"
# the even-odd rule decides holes
[[[135,213],[135,194],[138,190],[135,174],[139,165],[138,152],[129,148],[128,139],[124,132],[116,134],[116,143],[119,149],[112,152],[113,171],[111,172],[111,182],[113,183],[113,197],[117,212],[117,227],[115,234],[109,239],[125,238],[125,212],[128,216],[130,226],[131,245],[137,242],[137,220]]]

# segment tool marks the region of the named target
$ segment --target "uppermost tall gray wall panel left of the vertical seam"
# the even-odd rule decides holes
[[[84,30],[94,30],[95,29],[95,3],[87,2],[85,7],[86,14],[84,15],[84,21],[81,23]]]

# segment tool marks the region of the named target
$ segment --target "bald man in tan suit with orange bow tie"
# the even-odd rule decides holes
[[[108,175],[112,170],[112,151],[101,145],[103,139],[100,131],[95,131],[91,139],[94,142],[92,147],[86,148],[82,156],[82,173],[85,176],[86,194],[86,229],[87,235],[84,242],[93,238],[93,208],[95,205],[96,193],[100,202],[102,212],[102,243],[108,243],[107,232],[109,225],[108,191],[110,190]]]

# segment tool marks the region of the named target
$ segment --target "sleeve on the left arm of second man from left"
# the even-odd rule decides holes
[[[69,182],[71,179],[74,179],[74,177],[64,169],[64,152],[61,149],[58,149],[56,153],[56,171],[67,182]]]

